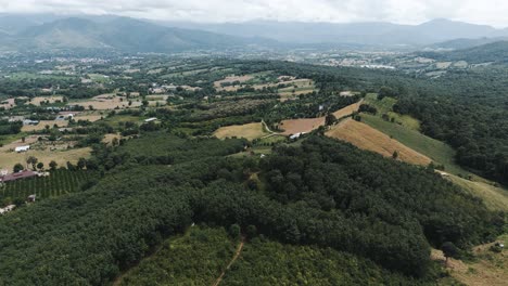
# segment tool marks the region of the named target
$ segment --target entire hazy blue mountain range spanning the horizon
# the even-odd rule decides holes
[[[462,49],[508,39],[508,29],[448,20],[421,25],[252,21],[199,24],[114,15],[0,14],[1,50],[114,49],[182,52],[231,48]]]

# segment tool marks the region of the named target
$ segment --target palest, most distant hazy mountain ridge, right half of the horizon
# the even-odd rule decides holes
[[[272,21],[224,24],[165,22],[161,24],[231,36],[263,37],[293,43],[335,42],[370,46],[426,46],[457,38],[508,36],[508,30],[448,20],[434,20],[416,26],[390,23],[333,24]]]

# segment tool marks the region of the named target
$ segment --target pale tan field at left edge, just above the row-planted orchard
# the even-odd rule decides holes
[[[48,167],[51,160],[56,161],[59,166],[66,166],[67,161],[76,164],[79,158],[88,158],[90,156],[91,148],[72,148],[65,151],[50,151],[47,150],[29,150],[25,153],[15,153],[15,152],[1,152],[0,153],[0,168],[5,168],[9,171],[12,171],[14,165],[21,162],[26,165],[26,158],[28,156],[34,156],[39,161],[43,162],[46,167]]]

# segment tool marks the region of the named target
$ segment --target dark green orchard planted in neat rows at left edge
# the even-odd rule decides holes
[[[36,194],[37,198],[46,198],[75,193],[80,191],[84,183],[96,177],[97,173],[91,171],[55,170],[49,177],[7,182],[0,187],[0,200],[8,197],[26,199],[33,194]]]

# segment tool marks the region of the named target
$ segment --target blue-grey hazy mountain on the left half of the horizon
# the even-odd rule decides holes
[[[97,18],[94,18],[97,20]],[[168,28],[126,18],[101,17],[101,21],[71,17],[29,26],[0,44],[11,49],[115,49],[129,52],[178,52],[195,49],[220,49],[268,43],[182,28]]]

